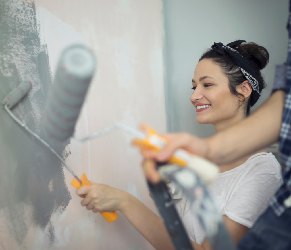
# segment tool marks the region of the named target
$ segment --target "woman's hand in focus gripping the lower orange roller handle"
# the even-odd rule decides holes
[[[90,183],[91,185],[80,187],[76,191],[77,195],[84,197],[81,201],[82,206],[86,206],[88,210],[92,209],[94,213],[122,210],[122,204],[126,201],[128,193],[93,181]]]

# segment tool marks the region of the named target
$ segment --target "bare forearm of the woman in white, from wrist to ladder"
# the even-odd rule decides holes
[[[162,219],[134,196],[128,194],[120,211],[157,250],[174,250]]]

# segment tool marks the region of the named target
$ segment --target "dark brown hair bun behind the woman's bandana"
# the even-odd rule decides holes
[[[237,51],[251,64],[255,72],[264,69],[269,62],[267,49],[256,43],[243,43]]]

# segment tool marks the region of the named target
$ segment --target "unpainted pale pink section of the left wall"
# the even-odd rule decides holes
[[[137,127],[142,120],[166,131],[161,0],[36,0],[35,7],[53,76],[62,49],[71,43],[84,43],[97,55],[97,73],[76,134],[117,122]],[[122,131],[84,143],[72,139],[66,162],[79,176],[85,172],[95,182],[127,190],[156,211],[141,172],[141,155],[130,139]],[[121,213],[109,224],[81,207],[70,186],[72,176],[66,169],[64,174],[72,200],[51,218],[57,240],[49,245],[46,232],[31,227],[28,249],[153,249]]]

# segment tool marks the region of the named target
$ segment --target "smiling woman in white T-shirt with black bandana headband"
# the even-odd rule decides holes
[[[269,54],[262,46],[242,42],[228,46],[215,43],[203,54],[194,71],[191,103],[196,108],[196,120],[213,124],[217,131],[249,115],[250,107],[265,88],[260,70],[267,65]],[[120,210],[156,249],[173,249],[162,220],[138,199],[107,185],[91,184],[77,190],[78,195],[87,195],[81,202],[83,206],[93,212]],[[272,153],[263,149],[220,166],[210,191],[235,243],[267,208],[268,200],[279,186],[280,165]],[[195,249],[210,249],[187,197],[176,203]]]

